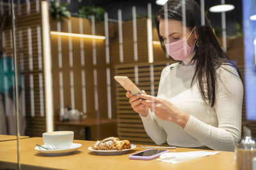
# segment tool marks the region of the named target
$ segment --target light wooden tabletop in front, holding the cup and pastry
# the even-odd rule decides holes
[[[83,146],[76,152],[62,156],[46,156],[38,153],[34,148],[36,143],[43,144],[42,138],[28,138],[20,140],[20,162],[22,169],[175,169],[175,170],[201,170],[236,169],[234,152],[220,152],[217,155],[199,159],[169,164],[153,160],[131,160],[131,153],[140,152],[141,148],[130,150],[124,155],[97,155],[90,152],[88,147],[93,141],[74,140]],[[177,148],[170,152],[187,152],[196,149]],[[17,168],[17,146],[15,141],[0,143],[0,167]]]

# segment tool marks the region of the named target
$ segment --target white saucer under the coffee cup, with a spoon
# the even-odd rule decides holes
[[[42,145],[44,146],[44,145]],[[35,150],[37,150],[40,153],[45,153],[47,155],[64,155],[70,152],[74,152],[78,148],[80,148],[82,145],[80,143],[72,143],[71,147],[68,149],[58,149],[58,150],[45,150],[44,148],[40,146],[36,146]]]

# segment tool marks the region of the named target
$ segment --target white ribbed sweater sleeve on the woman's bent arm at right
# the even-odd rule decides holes
[[[184,131],[209,148],[234,151],[237,141],[241,138],[243,83],[232,66],[220,67],[217,74],[219,79],[214,109],[218,127],[190,116]]]

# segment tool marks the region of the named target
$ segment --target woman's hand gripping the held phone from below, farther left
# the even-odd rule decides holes
[[[146,94],[146,92],[144,90],[142,90],[142,92],[144,94]],[[126,92],[126,97],[129,98],[129,103],[131,104],[132,109],[134,111],[139,113],[141,115],[141,117],[147,117],[149,108],[148,108],[148,106],[145,106],[144,104],[141,103],[141,101],[143,99],[141,99],[140,97],[138,97],[136,95],[132,96],[131,92],[129,92],[129,91]]]

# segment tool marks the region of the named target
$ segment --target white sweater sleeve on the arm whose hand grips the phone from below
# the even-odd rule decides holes
[[[163,74],[165,73],[165,71],[166,67],[165,69],[163,69],[161,73],[158,92],[162,88],[163,83],[161,82],[161,80],[164,76]],[[141,120],[143,122],[145,131],[147,132],[148,136],[154,141],[154,143],[156,143],[157,145],[162,145],[164,142],[166,142],[167,134],[164,131],[164,129],[161,126],[159,126],[159,124],[157,124],[156,115],[154,115],[154,113],[151,110],[149,110],[148,116],[141,117]]]

